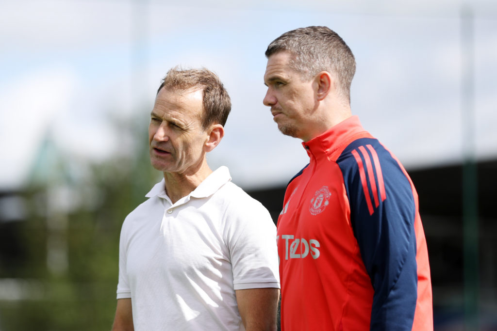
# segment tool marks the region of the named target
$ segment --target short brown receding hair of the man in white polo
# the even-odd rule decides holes
[[[167,71],[162,80],[161,88],[172,91],[202,90],[202,129],[211,124],[224,126],[231,111],[231,99],[219,77],[207,68],[182,69],[175,66]]]

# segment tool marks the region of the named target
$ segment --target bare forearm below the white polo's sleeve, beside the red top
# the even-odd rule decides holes
[[[238,310],[246,331],[275,331],[279,289],[236,290]]]

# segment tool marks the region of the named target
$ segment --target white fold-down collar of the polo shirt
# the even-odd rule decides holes
[[[207,176],[207,178],[200,183],[199,186],[193,192],[191,192],[188,197],[193,198],[207,198],[213,195],[217,190],[219,190],[223,185],[231,181],[230,170],[226,166],[221,166],[217,168],[212,174]],[[152,190],[145,197],[152,198],[159,196],[161,198],[166,198],[166,181],[163,178],[162,181],[154,185]],[[168,197],[167,197],[168,199]]]

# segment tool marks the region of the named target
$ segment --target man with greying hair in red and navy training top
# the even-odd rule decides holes
[[[263,103],[310,158],[277,224],[281,329],[433,330],[417,194],[351,114],[352,52],[311,26],[282,34],[265,55]]]

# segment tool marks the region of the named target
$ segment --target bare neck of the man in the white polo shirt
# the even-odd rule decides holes
[[[172,203],[192,193],[210,174],[211,168],[205,158],[200,165],[184,172],[164,172],[166,194]]]

